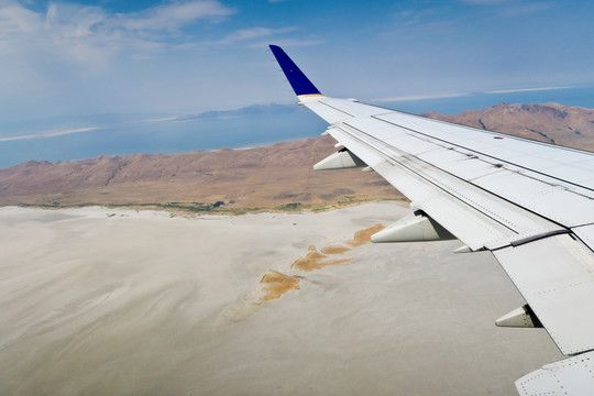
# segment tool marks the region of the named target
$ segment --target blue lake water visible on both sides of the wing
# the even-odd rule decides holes
[[[457,114],[502,102],[594,108],[594,87],[542,91],[475,94],[454,98],[377,103],[411,113]],[[315,138],[326,122],[295,105],[254,106],[198,116],[100,114],[28,124],[0,123],[0,168],[34,161],[74,161],[99,155],[174,154],[246,147]],[[15,136],[28,135],[28,139]]]

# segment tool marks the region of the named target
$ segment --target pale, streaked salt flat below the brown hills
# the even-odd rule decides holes
[[[407,211],[0,208],[0,394],[514,395],[561,359],[493,324],[522,299],[491,253],[345,243]],[[292,268],[337,244],[351,261]],[[271,271],[298,289],[264,300]]]

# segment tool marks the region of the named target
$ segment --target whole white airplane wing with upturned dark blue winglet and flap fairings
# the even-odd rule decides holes
[[[496,324],[543,327],[571,356],[519,378],[519,394],[594,394],[594,154],[329,98],[271,50],[342,146],[315,168],[366,166],[411,201],[414,215],[372,241],[491,251],[527,302]]]

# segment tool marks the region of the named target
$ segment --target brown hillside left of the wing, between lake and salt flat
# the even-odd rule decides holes
[[[336,151],[332,138],[249,150],[28,162],[0,169],[0,205],[148,205],[241,210],[307,209],[354,200],[398,199],[374,173],[314,172]]]

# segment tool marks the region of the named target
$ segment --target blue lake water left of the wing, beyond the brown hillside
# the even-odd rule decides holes
[[[275,107],[276,108],[276,107]],[[91,131],[50,138],[1,141],[0,167],[30,160],[72,161],[100,155],[136,153],[174,154],[222,147],[246,147],[278,141],[316,136],[324,123],[305,109],[262,108],[253,113],[200,117],[183,120],[131,121],[114,124],[91,123]],[[54,134],[52,128],[47,134]],[[76,130],[67,127],[65,131]],[[43,132],[45,133],[45,132]]]

